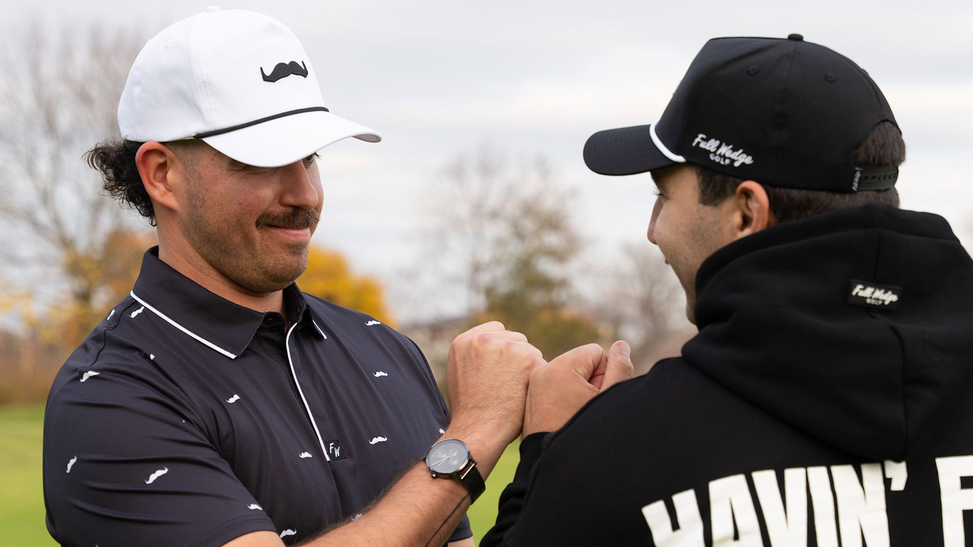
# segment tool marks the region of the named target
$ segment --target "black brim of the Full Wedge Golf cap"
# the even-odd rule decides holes
[[[605,129],[585,143],[585,164],[598,174],[632,175],[678,164],[652,141],[651,125]]]

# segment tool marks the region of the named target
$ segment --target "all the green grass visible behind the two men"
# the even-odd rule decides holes
[[[0,538],[4,545],[24,547],[56,545],[44,526],[44,492],[41,487],[41,445],[44,406],[0,407]],[[520,460],[514,443],[486,481],[486,492],[467,515],[479,543],[496,519],[500,492],[514,478]]]

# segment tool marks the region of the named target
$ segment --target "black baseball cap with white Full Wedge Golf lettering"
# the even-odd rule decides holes
[[[598,131],[584,157],[606,175],[689,163],[769,186],[885,190],[898,167],[860,167],[854,152],[882,122],[895,124],[888,102],[846,56],[800,34],[714,38],[658,122]]]

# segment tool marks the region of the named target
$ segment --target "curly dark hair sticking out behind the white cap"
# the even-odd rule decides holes
[[[135,209],[155,226],[156,211],[135,165],[135,154],[143,144],[124,138],[103,140],[85,153],[85,160],[101,172],[101,188],[108,196]]]

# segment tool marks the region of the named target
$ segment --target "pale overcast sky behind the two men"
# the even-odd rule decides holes
[[[211,3],[211,2],[210,2]],[[30,18],[135,24],[151,34],[207,2],[18,3]],[[865,68],[909,146],[906,208],[943,214],[973,237],[973,2],[492,1],[226,2],[278,18],[301,38],[336,114],[384,141],[325,151],[316,243],[386,279],[416,252],[415,200],[450,157],[483,143],[544,155],[577,187],[595,254],[644,240],[648,175],[603,177],[581,159],[602,128],[654,121],[703,43],[797,32]],[[96,22],[95,22],[96,21]],[[963,234],[965,232],[965,235]],[[648,244],[648,243],[646,243]]]

